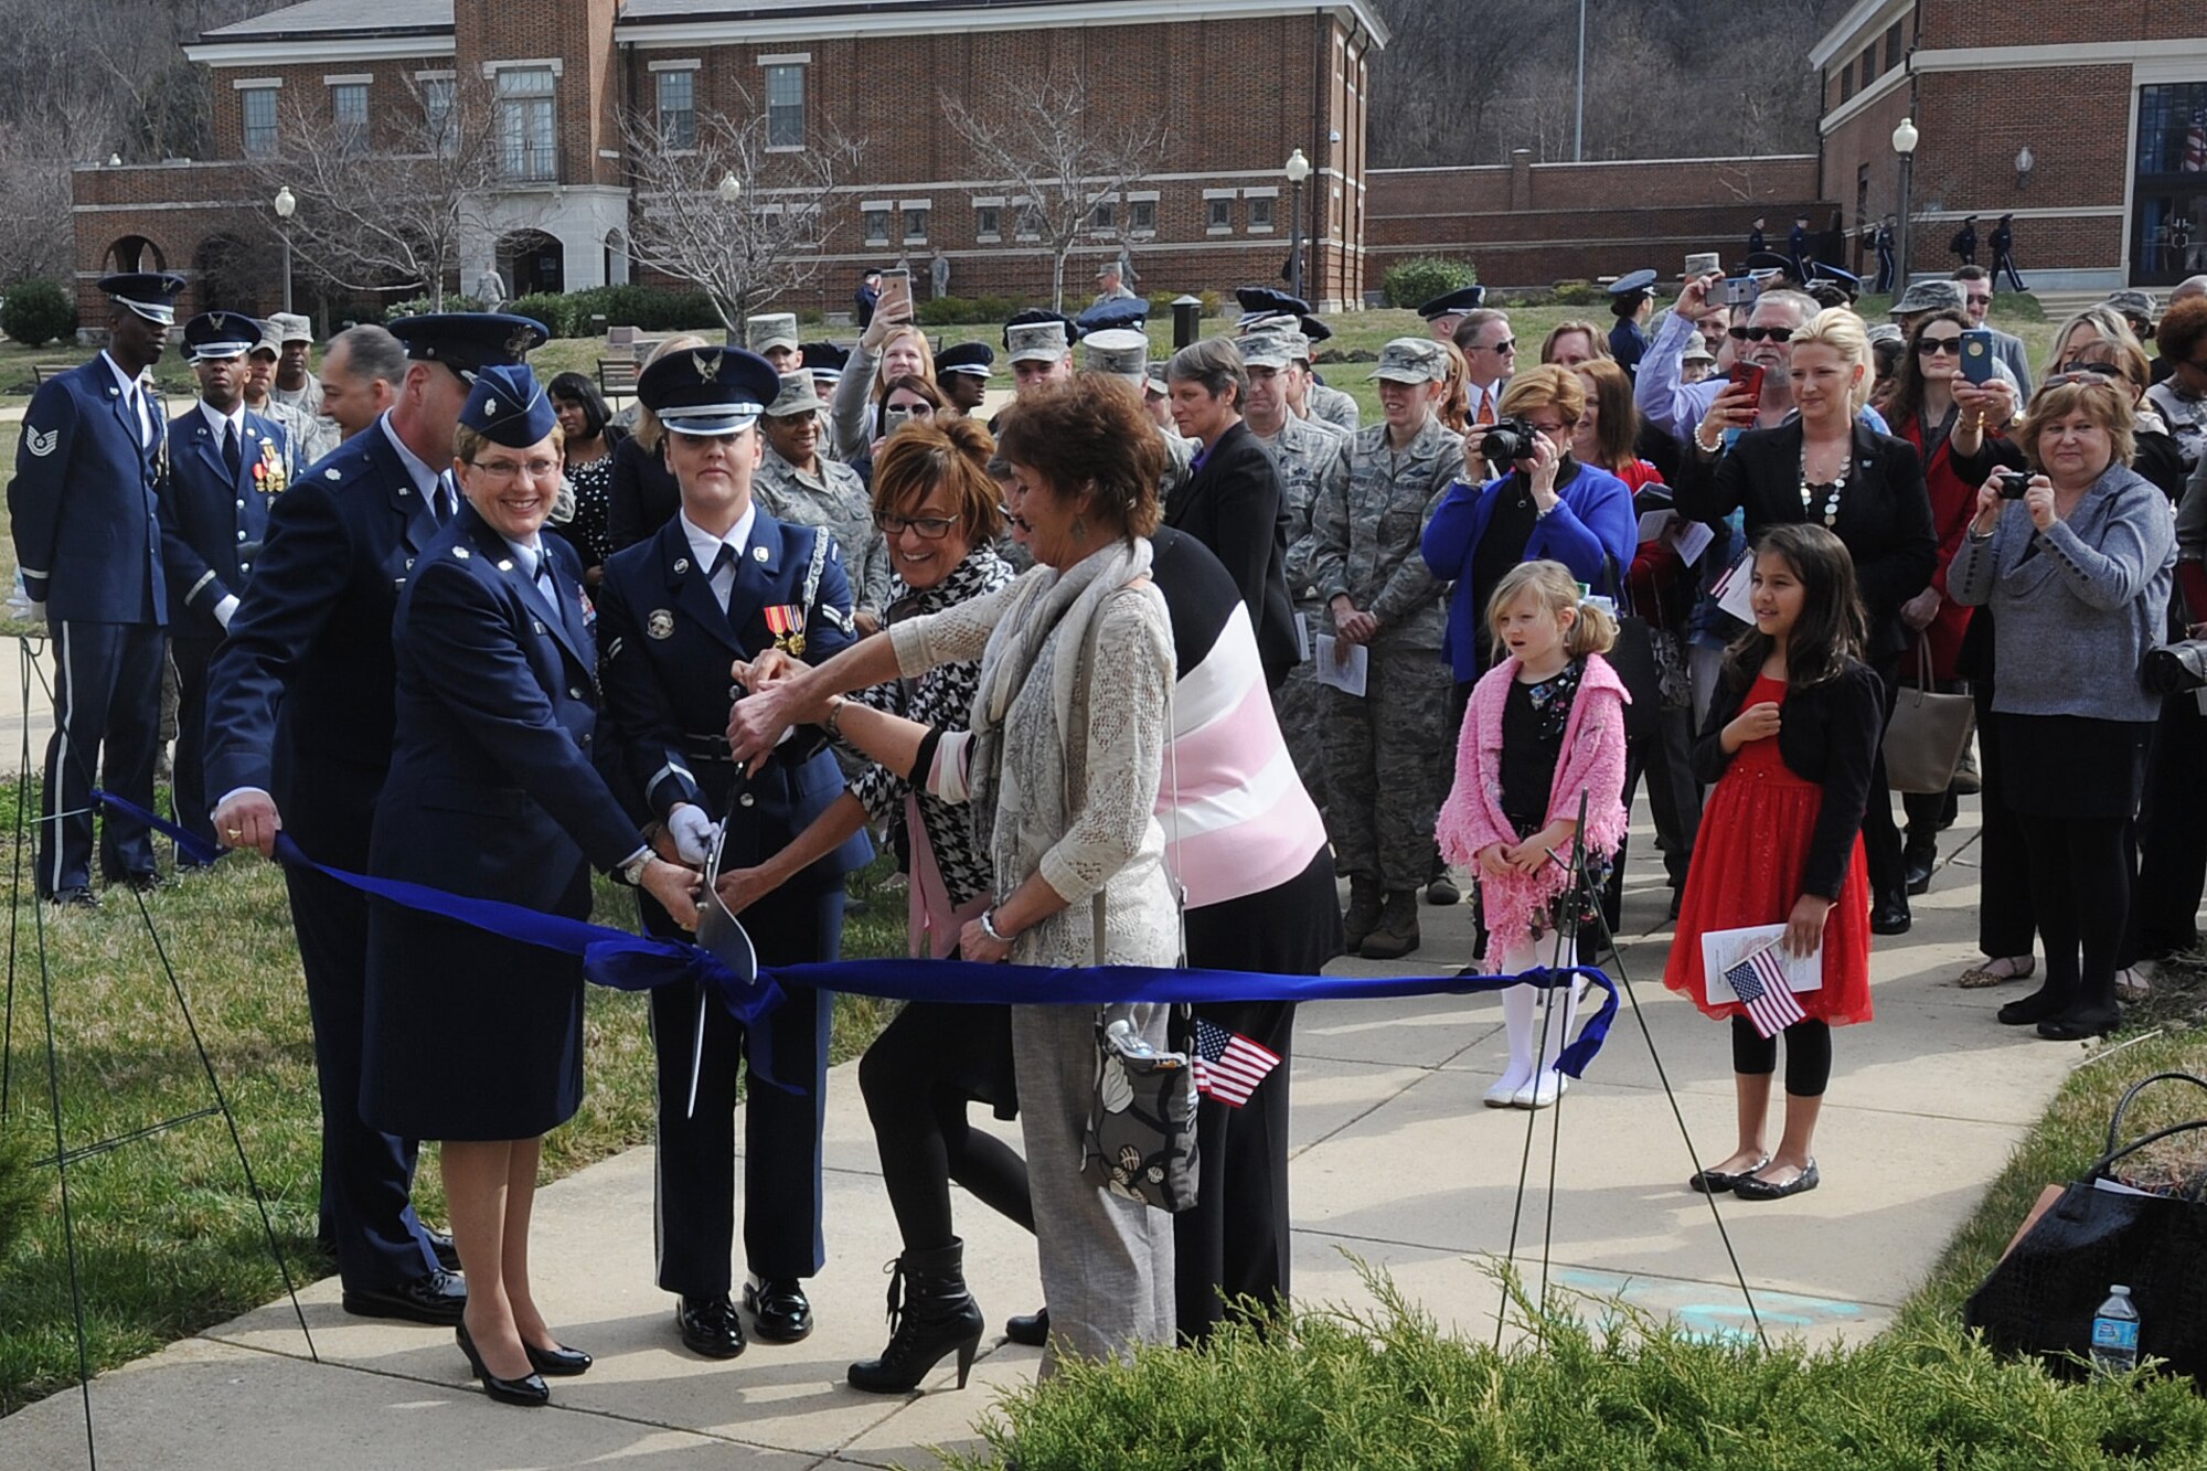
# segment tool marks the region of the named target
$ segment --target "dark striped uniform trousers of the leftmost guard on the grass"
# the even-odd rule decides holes
[[[57,678],[33,877],[42,899],[93,886],[95,780],[152,811],[168,652],[166,632],[152,623],[55,618],[51,629]],[[99,815],[99,872],[110,881],[154,872],[143,822],[117,811]]]

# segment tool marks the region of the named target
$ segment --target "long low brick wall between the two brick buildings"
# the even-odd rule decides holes
[[[1468,256],[1483,283],[1503,287],[1640,267],[1668,281],[1688,252],[1737,263],[1757,214],[1770,219],[1772,245],[1794,210],[1827,227],[1834,210],[1814,201],[1814,157],[1373,170],[1364,289],[1424,254]]]

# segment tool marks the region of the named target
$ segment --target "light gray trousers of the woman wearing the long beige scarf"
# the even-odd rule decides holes
[[[1165,1047],[1165,1007],[1137,1007],[1141,1036]],[[1035,1197],[1035,1252],[1051,1345],[1059,1354],[1123,1356],[1172,1343],[1172,1217],[1110,1195],[1081,1173],[1081,1133],[1097,1091],[1095,1007],[1013,1007],[1011,1058],[1020,1076],[1020,1133]]]

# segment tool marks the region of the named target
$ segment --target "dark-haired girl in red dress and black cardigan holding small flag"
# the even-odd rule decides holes
[[[1869,1020],[1869,877],[1863,806],[1885,729],[1878,676],[1861,660],[1854,561],[1814,523],[1772,526],[1755,548],[1755,629],[1724,656],[1724,680],[1693,749],[1715,786],[1686,872],[1664,985],[1732,1023],[1739,1149],[1691,1179],[1695,1190],[1781,1199],[1814,1190],[1810,1144],[1832,1076],[1832,1027]],[[1785,1133],[1763,1146],[1777,1038],[1737,1001],[1708,1001],[1702,934],[1785,925],[1783,945],[1823,948],[1823,985],[1796,992],[1785,1029]]]

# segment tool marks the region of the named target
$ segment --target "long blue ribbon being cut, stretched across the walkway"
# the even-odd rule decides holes
[[[106,802],[119,813],[137,817],[146,826],[177,839],[190,857],[214,861],[221,848],[207,839],[185,833],[177,824],[148,813],[135,802],[115,793],[93,791],[95,802]],[[346,888],[388,899],[408,910],[452,919],[503,939],[525,945],[541,945],[561,954],[583,956],[583,974],[596,985],[622,992],[649,992],[680,981],[695,981],[706,987],[728,1014],[744,1023],[750,1036],[753,1071],[761,1082],[772,1082],[786,1091],[790,1084],[775,1082],[772,1060],[766,1049],[768,1027],[761,1023],[781,1005],[786,985],[810,985],[823,992],[850,992],[854,996],[881,996],[885,1001],[945,1001],[964,1005],[1126,1005],[1159,1003],[1201,1005],[1207,1001],[1388,1001],[1404,996],[1479,996],[1501,992],[1512,985],[1554,990],[1576,978],[1602,990],[1602,1005],[1578,1029],[1556,1058],[1556,1069],[1574,1078],[1585,1078],[1587,1065],[1609,1040],[1609,1025],[1618,1016],[1618,985],[1596,965],[1536,965],[1516,976],[1278,976],[1251,970],[1163,970],[1152,965],[982,965],[980,961],[821,961],[810,965],[759,967],[759,976],[746,983],[713,954],[686,941],[662,941],[647,934],[631,934],[609,925],[594,925],[585,919],[563,919],[519,903],[499,899],[466,899],[424,883],[399,879],[371,879],[342,868],[316,864],[285,833],[276,835],[276,857],[285,864],[327,875]]]

